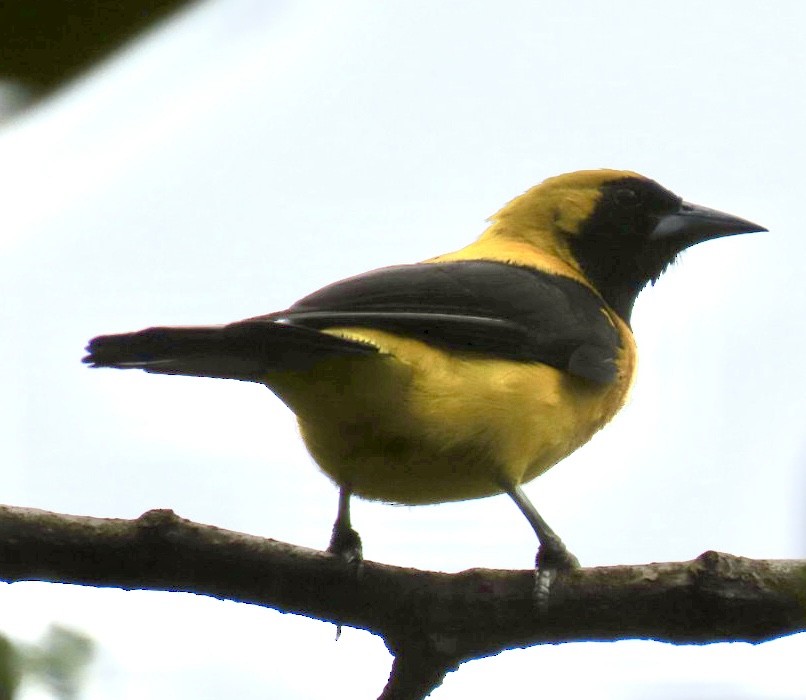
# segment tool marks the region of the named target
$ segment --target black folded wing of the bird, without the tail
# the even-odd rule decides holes
[[[382,268],[251,320],[317,330],[374,328],[451,351],[541,362],[608,383],[616,377],[620,342],[604,310],[597,294],[567,277],[462,261]]]

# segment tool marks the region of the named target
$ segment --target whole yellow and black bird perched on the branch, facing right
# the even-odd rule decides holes
[[[353,496],[420,505],[505,493],[538,538],[535,597],[579,566],[523,490],[624,405],[639,293],[683,250],[766,231],[628,170],[548,178],[469,245],[285,310],[94,338],[92,367],[267,386],[339,490],[328,551],[360,566]]]

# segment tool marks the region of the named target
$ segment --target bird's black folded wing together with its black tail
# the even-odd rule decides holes
[[[260,381],[269,371],[377,348],[325,333],[383,330],[452,352],[541,362],[598,383],[615,378],[619,336],[575,280],[497,262],[382,268],[336,282],[285,311],[225,326],[148,328],[93,339],[84,362],[160,374]]]

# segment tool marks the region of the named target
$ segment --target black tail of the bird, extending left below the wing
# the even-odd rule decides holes
[[[87,352],[82,362],[91,367],[261,381],[268,372],[306,370],[326,359],[372,355],[377,348],[303,326],[249,320],[101,335]]]

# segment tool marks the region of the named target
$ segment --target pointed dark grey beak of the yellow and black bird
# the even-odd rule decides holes
[[[681,248],[687,248],[712,238],[766,230],[763,226],[740,219],[738,216],[682,202],[676,212],[658,219],[658,223],[649,234],[649,240],[674,243]]]

